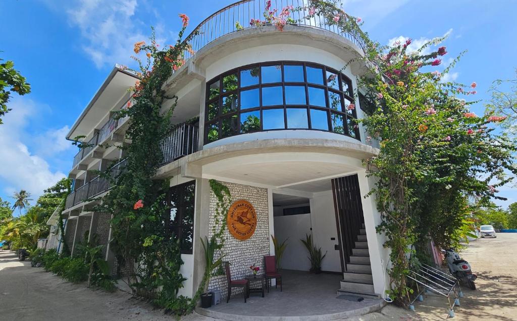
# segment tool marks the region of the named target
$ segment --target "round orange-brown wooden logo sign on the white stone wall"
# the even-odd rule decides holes
[[[230,206],[226,217],[228,230],[237,239],[248,239],[255,233],[257,214],[250,202],[239,200]]]

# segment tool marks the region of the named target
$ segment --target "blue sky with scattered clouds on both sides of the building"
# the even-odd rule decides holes
[[[234,0],[4,0],[0,2],[0,57],[13,60],[32,85],[16,97],[0,125],[0,197],[27,189],[36,199],[64,177],[77,148],[65,134],[115,63],[131,63],[133,43],[146,40],[150,26],[162,44],[190,17],[188,31]],[[345,11],[363,19],[363,29],[381,43],[409,37],[414,44],[443,36],[444,61],[468,50],[450,79],[478,84],[477,99],[488,99],[492,81],[511,78],[517,68],[517,2],[349,0]],[[443,69],[443,68],[442,68]],[[473,108],[483,113],[482,103]],[[517,192],[501,189],[508,201]]]

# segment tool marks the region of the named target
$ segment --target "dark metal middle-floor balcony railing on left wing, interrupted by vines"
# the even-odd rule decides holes
[[[180,124],[176,126],[171,134],[161,142],[163,152],[163,163],[170,163],[176,159],[197,152],[197,140],[199,136],[199,127],[191,124]],[[127,159],[123,159],[108,171],[110,179],[104,175],[99,175],[83,186],[77,188],[68,195],[65,205],[70,208],[87,199],[94,198],[113,187],[112,182],[123,173],[126,173]]]

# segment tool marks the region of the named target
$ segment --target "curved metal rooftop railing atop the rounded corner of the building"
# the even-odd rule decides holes
[[[190,39],[192,50],[185,51],[185,59],[190,58],[195,52],[222,36],[242,29],[256,28],[256,26],[250,25],[250,21],[252,19],[264,20],[266,2],[267,0],[242,0],[210,15],[187,37]],[[323,15],[316,13],[314,17],[309,18],[308,3],[308,0],[272,0],[270,10],[277,9],[276,15],[278,16],[283,8],[293,6],[294,9],[289,15],[294,20],[293,24],[331,31],[352,41],[364,51],[364,42],[358,35],[343,33],[339,27],[329,23]],[[239,26],[237,26],[237,22]]]

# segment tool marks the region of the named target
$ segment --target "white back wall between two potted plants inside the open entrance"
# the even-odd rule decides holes
[[[287,240],[287,247],[282,256],[284,269],[308,271],[311,268],[307,258],[307,249],[300,239],[311,233],[311,214],[275,216],[275,237],[279,242]]]

